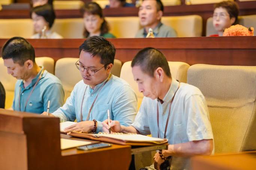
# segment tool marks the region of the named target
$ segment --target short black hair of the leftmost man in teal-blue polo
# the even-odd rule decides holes
[[[3,59],[12,59],[14,63],[23,66],[25,61],[35,63],[35,50],[32,45],[22,37],[12,37],[5,42],[2,48]]]

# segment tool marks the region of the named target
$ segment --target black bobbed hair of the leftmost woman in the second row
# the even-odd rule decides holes
[[[55,16],[54,9],[51,5],[44,4],[44,5],[33,7],[30,12],[31,16],[33,12],[36,13],[36,15],[42,16],[45,19],[45,21],[49,23],[49,28],[52,28],[52,25],[54,23],[56,16]]]

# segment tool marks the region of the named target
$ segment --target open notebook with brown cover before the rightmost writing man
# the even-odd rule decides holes
[[[168,142],[168,139],[152,138],[150,136],[138,135],[138,134],[104,134],[104,133],[82,133],[82,132],[69,132],[68,135],[79,138],[87,138],[95,141],[109,142],[119,145],[155,145],[164,144]]]

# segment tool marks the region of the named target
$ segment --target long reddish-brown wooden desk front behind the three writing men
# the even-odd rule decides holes
[[[79,57],[78,48],[85,39],[28,40],[37,57],[55,61],[63,57]],[[256,36],[190,37],[190,38],[117,38],[108,39],[116,47],[116,59],[130,61],[145,47],[158,48],[168,61],[193,64],[256,66]],[[0,48],[6,39],[0,39]]]

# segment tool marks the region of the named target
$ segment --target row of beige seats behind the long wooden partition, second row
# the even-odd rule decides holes
[[[106,17],[110,32],[117,38],[134,38],[141,28],[138,17]],[[201,37],[202,18],[199,15],[164,16],[162,22],[173,27],[178,37]],[[239,23],[246,27],[256,28],[256,15],[239,16]],[[18,26],[17,26],[18,25]],[[56,19],[52,31],[58,32],[64,38],[83,38],[83,19]],[[206,35],[216,34],[212,18],[207,20]],[[30,38],[33,35],[31,19],[0,19],[0,38],[20,36]]]

